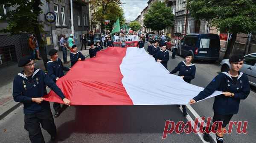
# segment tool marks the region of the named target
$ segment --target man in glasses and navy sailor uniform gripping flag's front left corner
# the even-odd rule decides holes
[[[18,67],[23,67],[23,71],[14,78],[12,95],[14,101],[24,105],[24,128],[29,132],[31,143],[45,143],[40,124],[51,135],[51,140],[55,140],[57,132],[50,104],[43,98],[47,95],[46,85],[68,106],[69,99],[65,98],[62,91],[43,70],[35,69],[35,62],[30,56],[21,57]]]

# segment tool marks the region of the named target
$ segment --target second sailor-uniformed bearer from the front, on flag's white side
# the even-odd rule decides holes
[[[174,70],[172,70],[170,73],[177,73],[179,71],[178,76],[183,78],[184,81],[187,83],[190,83],[192,79],[195,79],[195,64],[192,63],[193,55],[192,53],[186,53],[185,55],[185,61],[180,62],[177,67],[175,67]],[[180,105],[177,105],[180,107]],[[181,105],[183,115],[186,116],[188,113],[186,112],[186,105]]]

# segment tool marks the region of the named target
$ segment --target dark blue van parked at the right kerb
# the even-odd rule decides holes
[[[217,60],[221,48],[218,34],[187,34],[180,40],[177,53],[191,52],[195,60]]]

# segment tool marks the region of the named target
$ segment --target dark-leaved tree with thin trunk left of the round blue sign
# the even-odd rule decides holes
[[[49,0],[46,0],[49,3]],[[38,44],[42,44],[41,32],[44,28],[43,21],[38,20],[42,13],[41,0],[1,0],[0,4],[6,7],[15,7],[15,10],[8,11],[6,15],[0,18],[0,21],[7,20],[8,25],[0,32],[10,34],[35,33]],[[39,47],[44,66],[47,63],[47,56],[44,47]]]

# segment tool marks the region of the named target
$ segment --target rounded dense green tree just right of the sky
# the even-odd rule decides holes
[[[156,2],[148,10],[148,14],[145,14],[143,22],[147,28],[159,33],[160,30],[174,25],[172,8],[166,7],[165,3]]]

